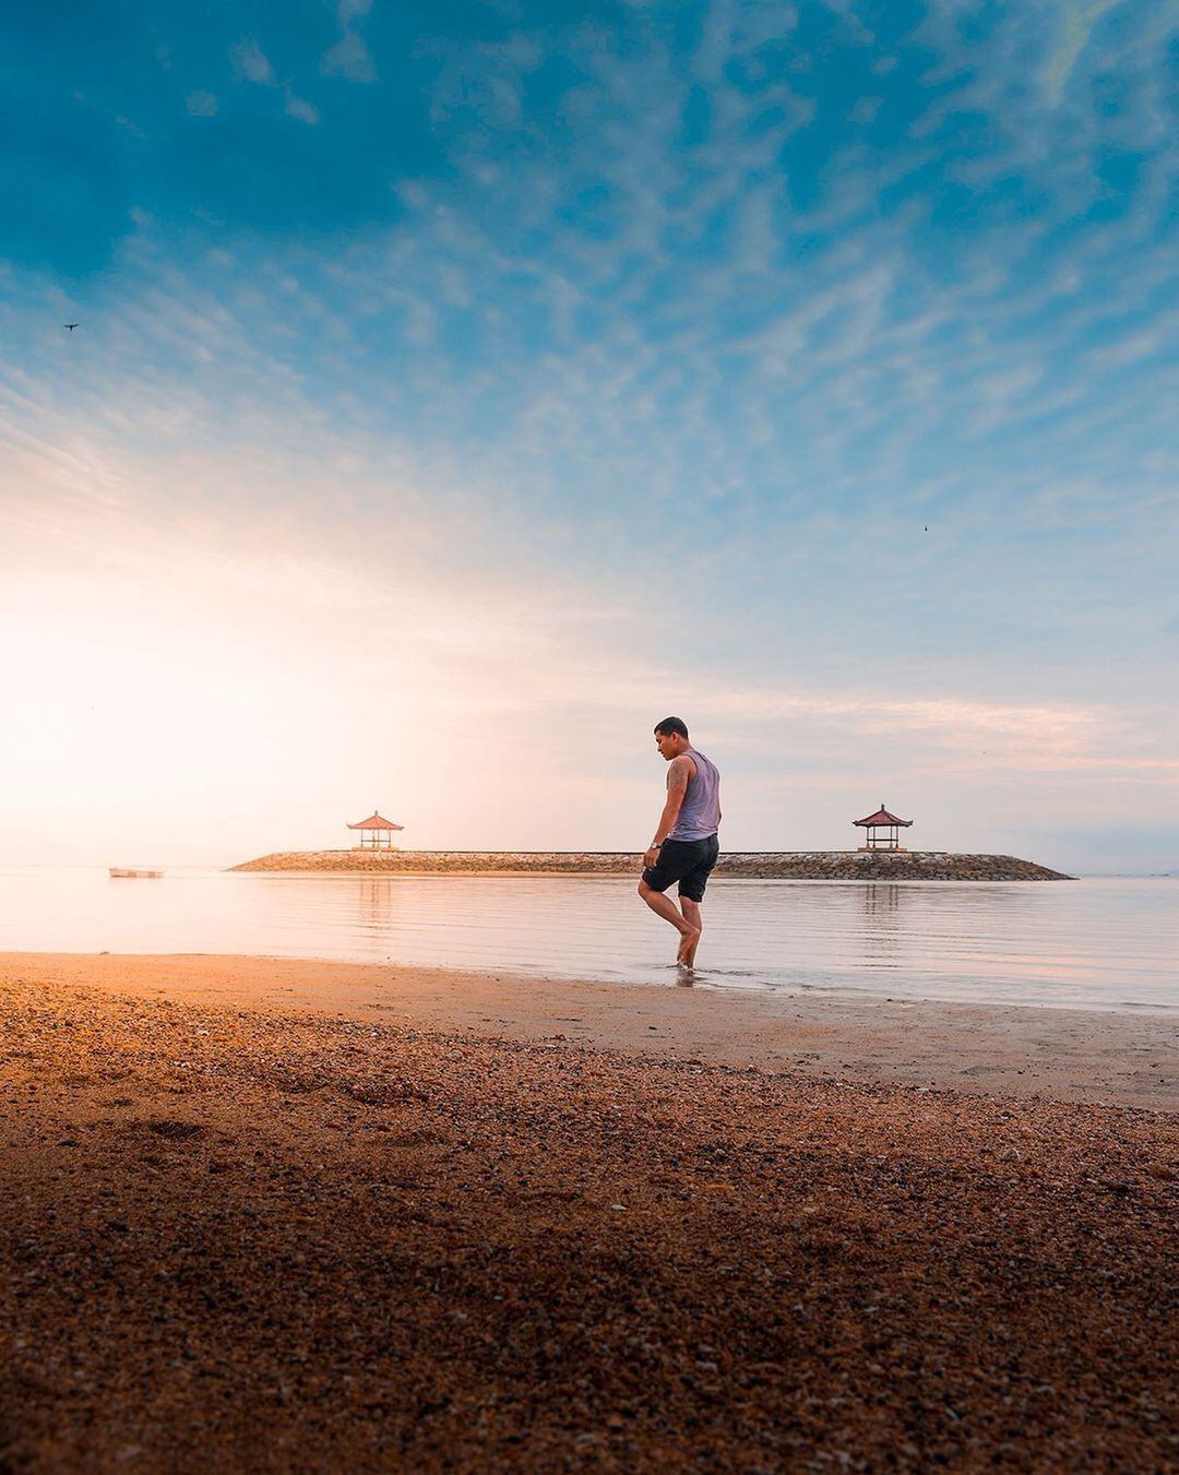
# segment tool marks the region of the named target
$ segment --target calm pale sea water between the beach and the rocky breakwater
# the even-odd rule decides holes
[[[1179,1007],[1179,879],[713,881],[696,987]],[[0,867],[0,951],[251,953],[674,981],[614,878]]]

